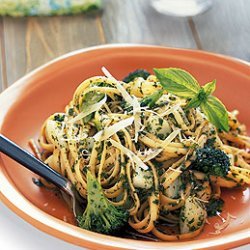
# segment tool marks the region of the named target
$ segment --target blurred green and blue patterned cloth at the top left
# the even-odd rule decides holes
[[[0,0],[0,15],[72,15],[100,7],[101,0]]]

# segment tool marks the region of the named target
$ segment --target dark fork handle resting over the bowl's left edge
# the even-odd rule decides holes
[[[59,188],[67,189],[71,183],[55,170],[50,168],[42,161],[35,158],[32,154],[20,148],[13,141],[0,134],[0,152],[6,154],[13,160],[17,161],[27,169],[40,175],[47,181],[53,183]]]

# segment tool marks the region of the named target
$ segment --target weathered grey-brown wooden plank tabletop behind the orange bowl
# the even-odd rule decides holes
[[[20,0],[0,0],[0,7],[5,1]],[[162,6],[169,6],[168,1],[179,0],[165,0]],[[85,14],[0,17],[0,86],[6,88],[30,70],[64,53],[108,43],[201,49],[250,61],[249,0],[212,0],[211,8],[193,17],[159,13],[152,7],[154,2],[159,1],[102,0],[101,9]],[[190,6],[183,8],[188,12]]]

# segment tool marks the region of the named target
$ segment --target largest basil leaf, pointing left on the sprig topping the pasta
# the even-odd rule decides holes
[[[154,69],[160,84],[169,93],[193,98],[200,90],[197,80],[187,71],[178,68]]]

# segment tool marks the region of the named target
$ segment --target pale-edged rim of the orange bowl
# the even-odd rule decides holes
[[[106,44],[106,45],[98,45],[92,46],[88,48],[83,48],[79,50],[75,50],[64,55],[61,55],[42,66],[32,70],[15,83],[13,83],[10,87],[5,89],[0,94],[0,100],[8,97],[9,93],[11,93],[14,89],[19,89],[19,87],[25,86],[29,84],[29,79],[32,79],[38,72],[42,72],[46,70],[51,65],[54,65],[66,58],[70,58],[72,56],[88,53],[95,50],[105,50],[112,48],[141,48],[141,49],[162,49],[166,51],[183,51],[190,52],[195,55],[205,55],[217,59],[222,59],[229,61],[231,63],[236,63],[241,66],[250,66],[250,63],[238,58],[230,57],[227,55],[195,50],[195,49],[185,49],[185,48],[172,48],[158,45],[146,45],[146,44]],[[19,92],[17,92],[19,93]],[[3,118],[5,117],[5,112],[0,115],[0,123],[2,123]],[[0,125],[1,127],[1,125]],[[4,165],[0,156],[0,165]],[[0,200],[7,205],[14,213],[23,218],[25,221],[35,226],[36,228],[44,231],[50,235],[53,235],[57,238],[60,238],[64,241],[70,242],[75,245],[85,246],[85,247],[106,247],[110,249],[152,249],[156,247],[156,242],[147,242],[142,240],[132,240],[125,239],[114,236],[107,236],[103,234],[98,234],[95,232],[90,232],[84,229],[80,229],[76,226],[70,225],[64,221],[61,221],[44,211],[37,208],[30,201],[28,201],[13,185],[9,176],[5,173],[3,168],[0,168]],[[239,246],[242,244],[247,244],[250,242],[249,239],[250,229],[240,230],[236,233],[230,233],[228,235],[223,235],[223,237],[216,236],[214,238],[209,239],[201,239],[201,240],[190,240],[190,241],[175,241],[175,242],[157,242],[157,249],[167,249],[173,247],[175,249],[187,249],[187,242],[190,249],[202,249],[202,248],[214,248],[218,246]]]

